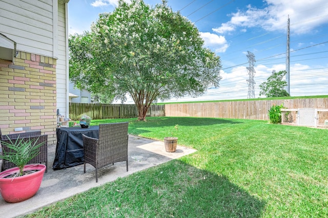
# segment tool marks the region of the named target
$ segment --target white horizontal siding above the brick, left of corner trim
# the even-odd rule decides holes
[[[52,0],[0,0],[0,32],[18,51],[53,57]]]

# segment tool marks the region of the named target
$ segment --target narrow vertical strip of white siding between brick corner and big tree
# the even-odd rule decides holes
[[[58,36],[57,36],[57,45],[58,45],[58,59],[56,66],[56,84],[57,84],[57,108],[61,115],[68,117],[68,66],[67,66],[67,27],[66,27],[66,9],[65,4],[58,3]]]

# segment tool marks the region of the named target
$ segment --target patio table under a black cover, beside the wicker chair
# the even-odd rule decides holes
[[[82,134],[98,138],[99,126],[90,126],[89,128],[62,127],[57,128],[56,134],[57,145],[52,168],[54,170],[65,169],[84,163]]]

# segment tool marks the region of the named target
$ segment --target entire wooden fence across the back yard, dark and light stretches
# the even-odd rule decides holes
[[[284,100],[221,101],[204,103],[178,103],[152,105],[147,116],[152,117],[217,117],[235,119],[269,120],[268,111],[273,105],[283,104],[286,108],[328,109],[328,98],[304,98]],[[138,117],[135,104],[70,103],[72,120],[81,115],[92,119],[119,119]],[[320,120],[328,119],[323,115]],[[320,122],[321,123],[321,122]]]

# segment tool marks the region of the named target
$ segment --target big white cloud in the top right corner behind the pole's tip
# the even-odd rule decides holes
[[[290,15],[291,31],[305,33],[328,21],[326,0],[266,0],[267,7],[258,9],[248,5],[247,10],[232,13],[227,23],[213,31],[223,34],[237,28],[261,27],[266,31],[285,31]]]

